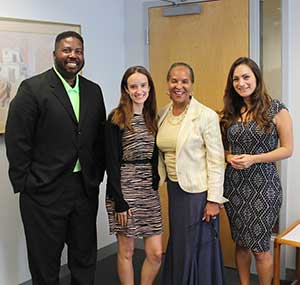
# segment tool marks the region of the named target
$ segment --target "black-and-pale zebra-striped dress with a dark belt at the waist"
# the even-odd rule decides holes
[[[152,187],[155,138],[148,132],[143,115],[134,115],[132,127],[133,130],[124,131],[122,138],[121,191],[132,213],[127,226],[115,221],[113,201],[107,199],[106,207],[111,234],[148,237],[162,232],[159,194]]]

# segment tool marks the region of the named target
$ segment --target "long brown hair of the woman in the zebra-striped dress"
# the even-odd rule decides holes
[[[131,66],[125,71],[121,81],[120,102],[118,107],[113,110],[112,122],[118,125],[121,129],[124,128],[132,129],[131,120],[133,117],[133,106],[132,106],[133,104],[127,92],[128,90],[127,80],[134,73],[144,74],[148,79],[150,90],[149,90],[149,96],[144,103],[143,116],[149,132],[156,134],[157,132],[156,108],[157,107],[156,107],[155,87],[154,87],[151,74],[143,66],[139,66],[139,65]]]

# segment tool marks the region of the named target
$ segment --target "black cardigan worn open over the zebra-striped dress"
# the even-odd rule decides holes
[[[106,149],[106,172],[107,185],[106,195],[115,201],[116,212],[125,212],[129,209],[128,203],[123,198],[121,191],[121,163],[122,163],[122,137],[123,130],[112,123],[113,113],[108,117],[105,127],[105,149]],[[154,190],[158,189],[158,150],[155,144],[152,155],[152,186]]]

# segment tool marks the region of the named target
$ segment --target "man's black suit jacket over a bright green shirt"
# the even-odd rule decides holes
[[[105,106],[97,84],[79,76],[79,88],[78,123],[53,69],[21,83],[10,103],[5,133],[14,192],[52,203],[79,158],[87,194],[98,195],[105,170]]]

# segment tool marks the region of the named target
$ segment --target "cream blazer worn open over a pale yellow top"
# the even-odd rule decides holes
[[[171,104],[158,114],[158,127]],[[180,187],[189,193],[207,191],[207,200],[224,203],[224,148],[218,115],[193,97],[182,121],[176,145],[176,174]],[[163,153],[159,153],[160,185],[166,181]]]

